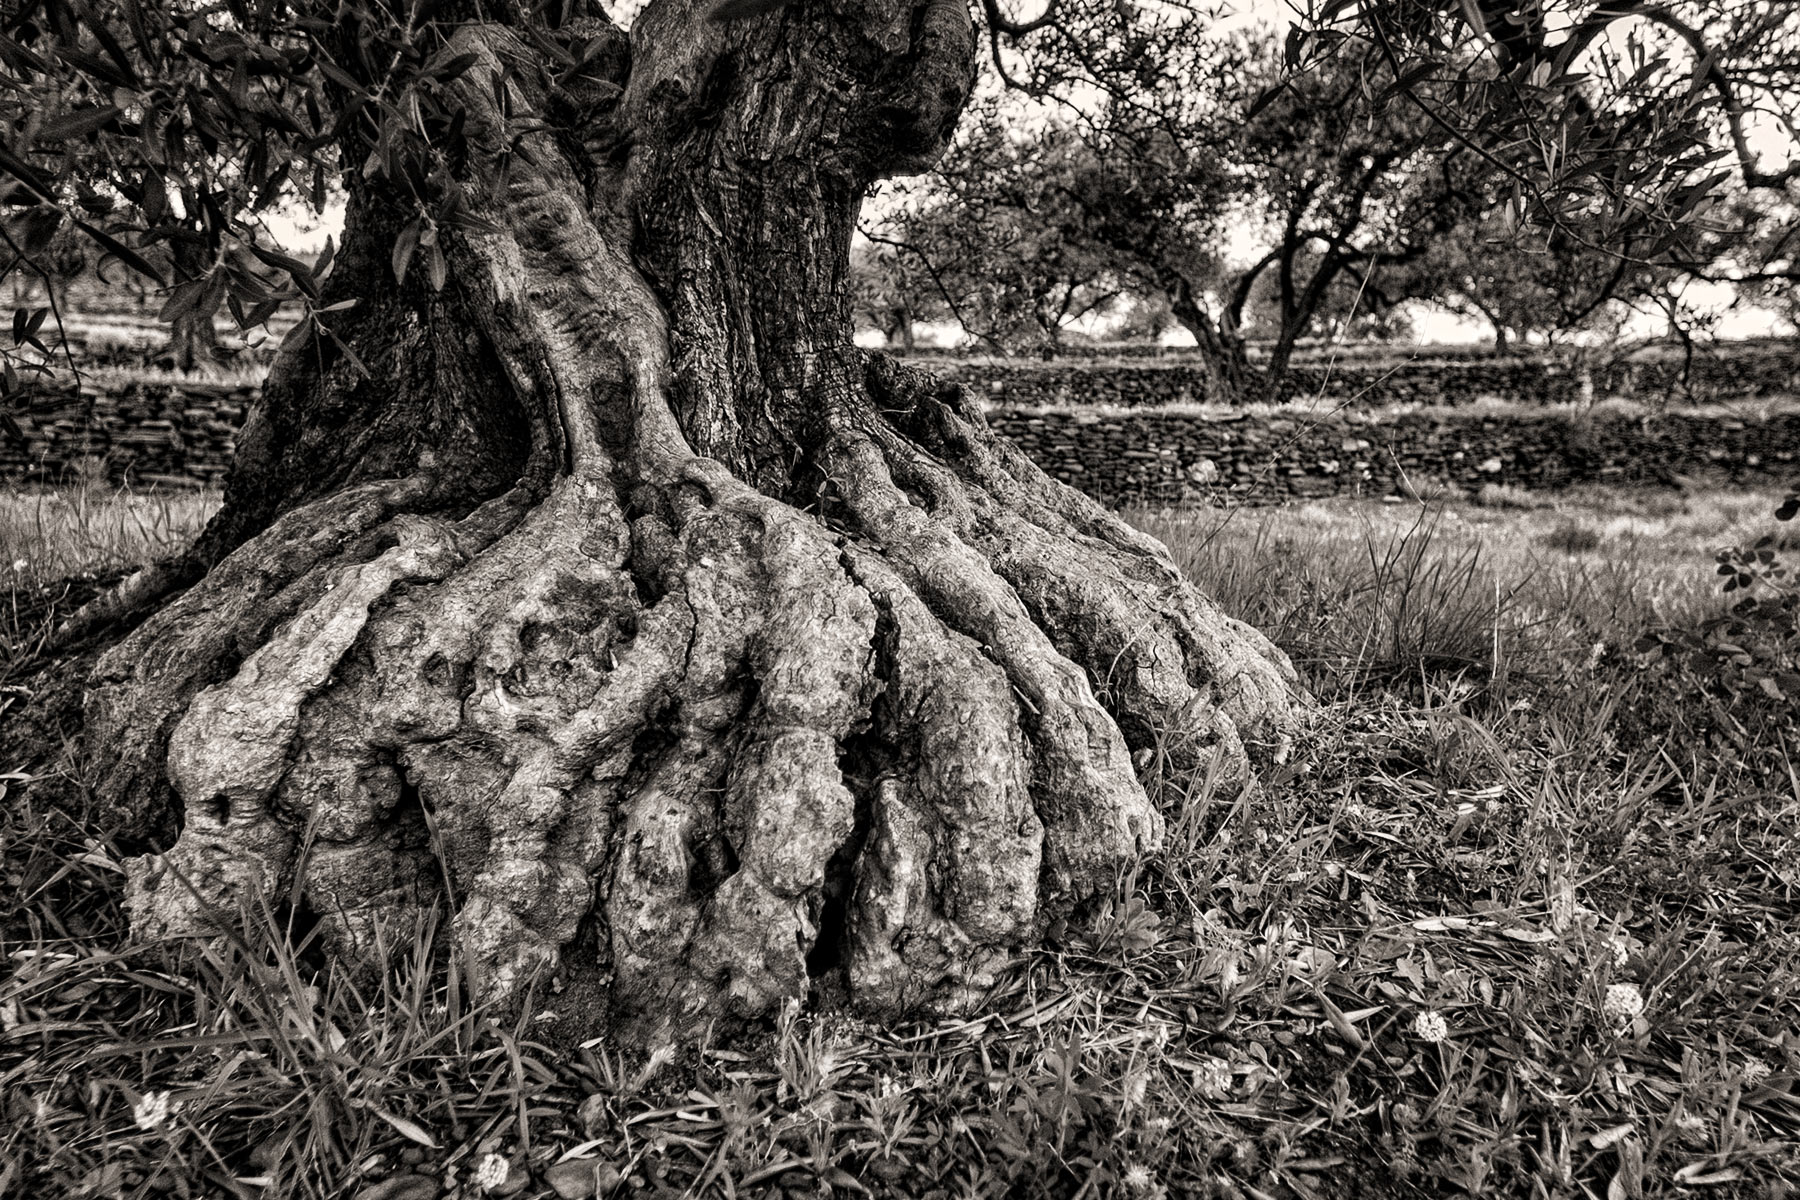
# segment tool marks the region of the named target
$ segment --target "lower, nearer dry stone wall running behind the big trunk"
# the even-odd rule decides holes
[[[1154,371],[1154,367],[1147,367]],[[1091,369],[1112,396],[1130,369]],[[45,387],[0,437],[0,479],[220,486],[252,385],[95,380]],[[1427,486],[1656,484],[1800,477],[1800,403],[1127,407],[988,403],[988,421],[1051,475],[1109,504],[1391,495]]]

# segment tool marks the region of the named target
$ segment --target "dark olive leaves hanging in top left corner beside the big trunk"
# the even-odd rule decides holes
[[[130,270],[166,288],[164,320],[223,306],[248,329],[288,302],[310,311],[333,261],[329,245],[315,261],[286,254],[263,216],[322,210],[347,182],[400,214],[396,279],[419,261],[441,288],[441,232],[479,232],[457,182],[464,115],[448,88],[472,59],[445,50],[454,22],[380,0],[13,5],[0,22],[0,277],[50,282],[47,255],[76,232],[103,279]],[[621,52],[616,31],[540,31],[540,43],[571,85]],[[302,318],[295,336],[322,327]],[[5,354],[9,387],[47,369],[45,347],[27,358],[20,345]]]

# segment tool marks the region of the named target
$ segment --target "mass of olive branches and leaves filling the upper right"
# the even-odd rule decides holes
[[[1053,2],[1030,20],[990,5],[997,81],[1080,146],[1080,176],[1067,153],[986,155],[988,187],[1060,189],[1046,225],[1127,290],[1163,293],[1219,356],[1240,353],[1255,309],[1274,372],[1355,297],[1510,308],[1525,329],[1525,308],[1573,327],[1670,273],[1791,282],[1768,254],[1793,212],[1791,13],[1539,5],[1514,13],[1544,22],[1525,38],[1496,38],[1496,20],[1514,27],[1496,13],[1318,5],[1282,36],[1220,34],[1186,5]],[[911,239],[983,219],[958,203],[959,155],[983,158],[986,124],[1017,137],[1022,112],[995,103],[952,148]],[[1233,263],[1246,228],[1262,248]],[[1458,255],[1489,270],[1453,279]]]

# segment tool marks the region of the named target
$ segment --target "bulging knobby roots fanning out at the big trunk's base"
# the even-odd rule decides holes
[[[1210,660],[1121,653],[1143,604],[1096,572],[1123,549],[1058,558],[1069,534],[1015,509],[1012,556],[990,561],[905,500],[873,441],[835,480],[855,536],[698,459],[670,518],[626,522],[583,477],[461,520],[376,522],[369,498],[290,515],[106,660],[137,669],[95,712],[117,694],[173,709],[232,587],[266,576],[288,613],[227,613],[261,646],[214,662],[167,732],[185,828],[131,867],[139,932],[205,934],[297,889],[331,945],[367,955],[380,919],[448,880],[490,995],[562,972],[610,1000],[583,1027],[653,1042],[770,1013],[823,973],[869,1013],[970,1004],[1159,842],[1091,678],[1111,667],[1105,694],[1145,720],[1168,705],[1228,777],[1247,759]],[[306,522],[346,551],[279,570]],[[1181,619],[1139,644],[1237,637]],[[1273,696],[1258,649],[1237,653]]]

